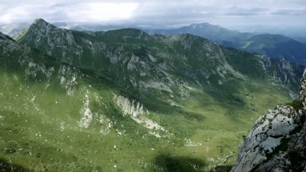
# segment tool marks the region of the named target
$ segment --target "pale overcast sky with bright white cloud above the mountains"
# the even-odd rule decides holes
[[[22,2],[22,3],[21,3]],[[306,25],[306,0],[0,0],[0,24],[99,23],[167,28],[208,22],[224,27]]]

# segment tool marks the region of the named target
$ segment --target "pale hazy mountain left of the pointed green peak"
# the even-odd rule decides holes
[[[29,26],[30,24],[28,23],[13,23],[7,25],[0,25],[0,32],[9,36],[15,36],[24,28],[27,28]]]

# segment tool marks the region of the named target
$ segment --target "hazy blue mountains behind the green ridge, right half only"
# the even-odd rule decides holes
[[[306,64],[306,44],[283,35],[259,34],[255,32],[241,33],[208,23],[192,24],[178,29],[145,31],[149,34],[163,35],[189,33],[207,38],[227,47],[233,47],[251,53],[264,54],[276,59],[285,56],[291,62]]]

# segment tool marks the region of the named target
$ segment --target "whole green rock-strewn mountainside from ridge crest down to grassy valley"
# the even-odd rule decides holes
[[[36,20],[19,38],[0,39],[0,157],[31,170],[231,166],[255,119],[290,101],[301,76],[286,59],[192,35]]]

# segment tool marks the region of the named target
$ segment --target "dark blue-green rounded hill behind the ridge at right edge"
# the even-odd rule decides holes
[[[306,44],[282,35],[256,35],[242,42],[223,41],[223,45],[251,53],[265,54],[271,58],[285,56],[294,63],[306,64]]]

